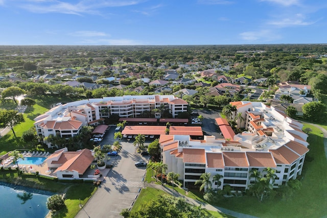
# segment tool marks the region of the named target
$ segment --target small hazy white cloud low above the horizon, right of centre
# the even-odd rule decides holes
[[[272,41],[281,38],[281,36],[271,30],[243,32],[240,33],[240,36],[246,41]]]

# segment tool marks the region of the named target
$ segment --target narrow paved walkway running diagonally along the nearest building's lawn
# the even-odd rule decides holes
[[[148,187],[152,187],[152,188],[156,188],[156,189],[160,189],[163,191],[166,191],[168,193],[172,193],[172,189],[166,187],[166,186],[162,186],[162,185],[158,185],[158,184],[153,184],[153,183],[147,183],[146,184]],[[181,197],[184,198],[185,201],[189,204],[195,205],[195,206],[202,206],[203,208],[207,209],[207,210],[212,210],[212,211],[218,211],[220,213],[225,213],[227,215],[232,215],[234,217],[242,217],[242,218],[258,218],[256,216],[251,216],[251,215],[247,215],[244,213],[239,213],[239,212],[235,212],[232,210],[228,210],[222,207],[217,207],[217,206],[213,206],[211,204],[204,204],[203,202],[194,200],[192,198],[189,198],[187,196],[181,195],[180,193],[178,193],[177,191],[174,191],[174,197]]]

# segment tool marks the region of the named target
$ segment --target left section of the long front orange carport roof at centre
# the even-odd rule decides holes
[[[165,135],[166,126],[126,126],[122,134],[127,135]]]

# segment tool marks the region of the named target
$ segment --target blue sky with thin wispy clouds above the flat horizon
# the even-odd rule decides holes
[[[325,0],[0,0],[1,45],[326,43]]]

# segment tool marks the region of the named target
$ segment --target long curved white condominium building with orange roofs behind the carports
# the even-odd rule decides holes
[[[188,110],[188,103],[174,95],[124,95],[88,99],[60,104],[34,118],[34,125],[41,137],[59,135],[70,138],[79,134],[83,126],[102,124],[112,114],[139,117],[146,111],[154,111],[155,117],[160,118],[162,110],[166,109],[176,117],[178,113]]]

